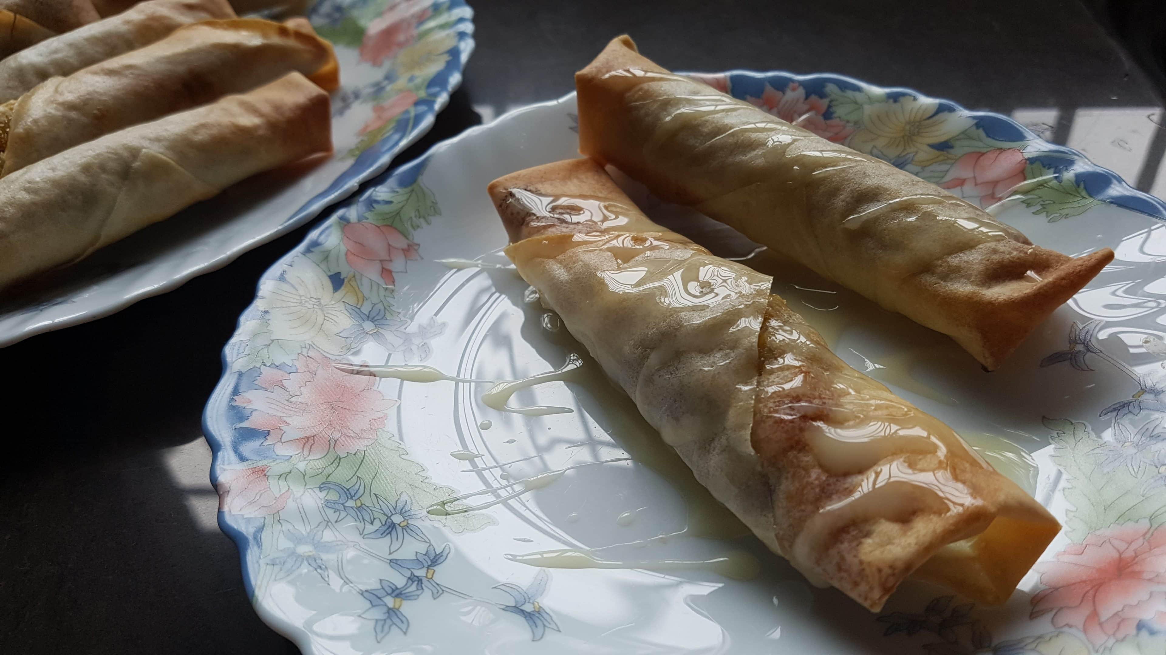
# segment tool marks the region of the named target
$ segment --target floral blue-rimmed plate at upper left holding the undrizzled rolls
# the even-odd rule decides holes
[[[465,0],[316,0],[308,17],[336,47],[324,161],[272,171],[47,275],[0,303],[0,346],[120,311],[216,270],[351,195],[433,126],[473,50]]]

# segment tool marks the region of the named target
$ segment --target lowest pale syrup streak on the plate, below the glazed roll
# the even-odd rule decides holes
[[[607,559],[597,549],[542,550],[525,555],[507,554],[511,562],[543,569],[644,569],[647,571],[711,571],[735,580],[751,580],[761,565],[749,552],[733,550],[708,559]]]

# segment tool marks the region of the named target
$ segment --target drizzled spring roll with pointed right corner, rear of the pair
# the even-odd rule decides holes
[[[627,36],[575,84],[581,153],[949,334],[989,369],[1114,259],[1033,246],[909,172],[669,73]]]

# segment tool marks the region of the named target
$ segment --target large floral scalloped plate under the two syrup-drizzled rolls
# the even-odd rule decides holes
[[[219,522],[262,618],[321,654],[1166,653],[1166,205],[1007,118],[913,91],[704,78],[991,206],[1035,242],[1117,252],[991,374],[828,282],[779,277],[841,357],[1062,519],[1011,600],[908,582],[871,614],[714,526],[724,513],[499,255],[485,185],[575,155],[568,96],[382,176],[264,276],[205,414]],[[754,249],[631,191],[726,256]],[[555,369],[507,406],[484,401],[490,382]],[[513,411],[534,406],[567,411]]]

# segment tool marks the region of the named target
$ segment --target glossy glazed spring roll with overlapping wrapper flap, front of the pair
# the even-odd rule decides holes
[[[652,223],[593,162],[489,190],[542,303],[812,582],[871,611],[908,576],[998,604],[1060,530],[950,428],[831,353],[771,277]]]

